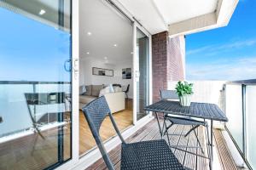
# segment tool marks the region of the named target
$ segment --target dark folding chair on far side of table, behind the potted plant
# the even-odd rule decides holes
[[[174,90],[163,90],[161,89],[160,90],[160,97],[161,99],[172,99],[172,100],[175,100],[175,99],[178,99],[178,96],[176,94],[176,92]],[[169,121],[171,122],[171,124],[167,127],[166,126],[166,121]],[[201,146],[201,143],[200,143],[200,140],[198,139],[198,133],[195,132],[195,129],[200,127],[200,126],[204,126],[204,127],[207,127],[207,132],[208,132],[208,125],[207,125],[207,122],[205,121],[197,121],[195,119],[192,119],[190,117],[177,117],[177,116],[170,116],[168,114],[166,114],[164,116],[164,125],[163,125],[163,128],[162,128],[162,134],[165,135],[167,134],[167,139],[168,139],[168,142],[169,144],[171,145],[170,143],[170,139],[169,139],[169,135],[175,135],[174,133],[168,133],[168,129],[171,128],[173,125],[188,125],[188,126],[191,126],[190,130],[184,134],[184,137],[187,137],[189,135],[189,133],[192,133],[194,132],[195,133],[195,138],[201,148],[201,152],[204,153],[203,149],[202,149],[202,146]],[[164,130],[164,127],[166,127],[166,129]],[[198,132],[198,131],[197,131]],[[207,139],[208,139],[208,135],[206,135]],[[208,142],[209,143],[209,142]],[[178,145],[176,145],[175,147],[177,147]]]

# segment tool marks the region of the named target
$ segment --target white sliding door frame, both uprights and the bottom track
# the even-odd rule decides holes
[[[129,14],[128,14],[129,15]],[[143,26],[140,26],[137,21],[134,20],[133,23],[133,65],[135,65],[135,55],[137,46],[137,28],[148,36],[148,58],[149,58],[149,104],[152,103],[152,54],[151,54],[151,35],[146,31]],[[72,1],[72,60],[73,60],[73,72],[72,72],[72,158],[71,160],[63,163],[60,167],[56,167],[57,170],[66,169],[81,169],[86,168],[91,162],[96,161],[101,154],[98,150],[91,150],[90,153],[82,157],[79,156],[79,1]],[[135,68],[135,67],[134,67]],[[133,75],[135,75],[136,69],[133,69]],[[134,78],[135,80],[135,78]],[[133,93],[136,92],[136,82],[134,83],[135,89]],[[134,94],[134,101],[136,101],[136,95]],[[137,102],[135,102],[137,103]],[[137,121],[137,105],[133,107],[133,126],[127,129],[123,134],[124,138],[128,138],[134,131],[143,127],[148,121],[152,120],[151,114],[144,116],[142,119]],[[119,144],[119,139],[114,137],[110,139],[105,147],[107,150],[113,149]]]

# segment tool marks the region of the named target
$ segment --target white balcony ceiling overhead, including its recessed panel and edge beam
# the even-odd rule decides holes
[[[238,0],[113,0],[151,34],[171,37],[226,26]]]

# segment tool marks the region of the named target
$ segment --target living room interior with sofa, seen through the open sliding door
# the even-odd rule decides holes
[[[133,125],[133,27],[131,21],[100,0],[81,1],[79,42],[79,153],[96,146],[81,109],[105,96],[120,130]],[[102,29],[104,27],[104,29]],[[114,129],[108,117],[100,130],[105,141]],[[104,130],[105,129],[105,130]]]

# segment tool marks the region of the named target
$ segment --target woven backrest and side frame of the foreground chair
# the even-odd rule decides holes
[[[105,97],[102,96],[98,99],[91,101],[88,105],[84,106],[82,111],[84,112],[84,116],[89,124],[90,131],[91,131],[94,139],[96,140],[96,144],[102,153],[103,160],[105,161],[108,169],[113,170],[114,169],[113,162],[110,160],[108,153],[105,150],[105,147],[102,143],[102,139],[101,139],[101,136],[99,133],[102,122],[106,116],[109,116],[109,118],[113,124],[113,127],[114,127],[116,133],[118,133],[119,139],[121,139],[122,143],[125,143],[125,140],[123,139],[116,123],[113,120],[113,116],[108,107],[108,103],[107,103]]]

